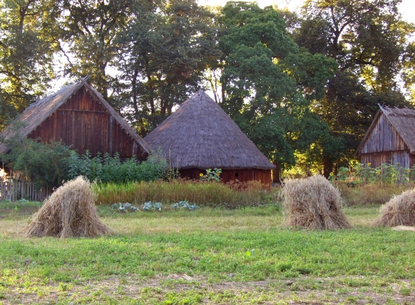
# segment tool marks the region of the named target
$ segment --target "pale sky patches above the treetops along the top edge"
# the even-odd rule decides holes
[[[226,0],[198,0],[199,4],[208,6],[223,6]],[[277,4],[279,8],[287,7],[289,10],[295,10],[299,6],[302,6],[304,0],[257,0],[255,1],[259,6],[271,6]],[[399,5],[399,11],[403,16],[403,19],[409,22],[415,23],[415,1],[414,0],[403,0]]]

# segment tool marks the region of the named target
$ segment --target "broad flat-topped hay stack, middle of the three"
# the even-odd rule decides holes
[[[323,176],[288,181],[282,190],[288,225],[311,230],[351,228],[340,192]]]

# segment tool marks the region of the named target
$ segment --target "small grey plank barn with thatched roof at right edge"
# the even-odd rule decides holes
[[[380,107],[355,156],[360,163],[410,168],[415,164],[415,110]]]

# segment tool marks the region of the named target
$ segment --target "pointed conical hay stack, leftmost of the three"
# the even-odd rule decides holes
[[[50,196],[33,217],[26,237],[95,237],[109,232],[96,212],[91,184],[79,176]]]

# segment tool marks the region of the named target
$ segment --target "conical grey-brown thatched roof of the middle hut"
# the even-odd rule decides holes
[[[145,141],[161,147],[178,169],[274,169],[237,124],[203,90],[170,115]]]

